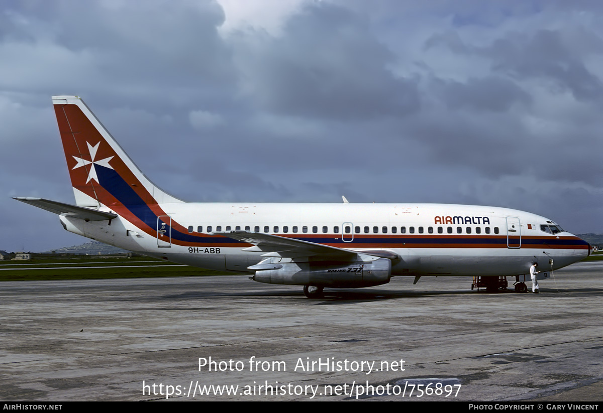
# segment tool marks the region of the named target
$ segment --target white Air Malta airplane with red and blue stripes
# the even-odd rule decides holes
[[[268,284],[361,288],[392,276],[525,275],[590,255],[554,221],[508,208],[443,203],[191,203],[153,184],[78,96],[53,96],[75,205],[15,197],[69,232]],[[523,281],[516,291],[525,292]]]

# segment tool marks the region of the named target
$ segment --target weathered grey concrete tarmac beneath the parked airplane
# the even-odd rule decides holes
[[[602,275],[574,264],[540,294],[395,277],[314,300],[247,276],[3,282],[0,400],[601,401]]]

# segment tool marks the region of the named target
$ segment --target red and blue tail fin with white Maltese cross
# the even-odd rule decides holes
[[[78,206],[182,203],[153,184],[78,96],[52,96]]]

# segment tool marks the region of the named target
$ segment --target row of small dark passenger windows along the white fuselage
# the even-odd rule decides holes
[[[241,227],[239,225],[235,226],[235,231],[241,231],[241,228],[244,228],[245,231],[251,231],[251,226],[250,225],[245,225],[244,227]],[[443,226],[438,226],[436,227],[436,231],[438,234],[444,234],[444,227]],[[270,226],[265,225],[264,226],[264,231],[263,232],[273,232],[277,233],[277,232],[281,232],[279,231],[279,229],[282,229],[283,233],[288,233],[289,232],[289,226],[283,226],[282,228],[279,227],[278,225],[273,226],[272,231],[270,231]],[[308,226],[302,226],[301,227],[301,232],[303,234],[308,233]],[[427,229],[427,231],[425,231],[425,229]],[[397,226],[392,226],[392,227],[388,227],[388,226],[382,226],[379,228],[379,226],[373,226],[372,227],[372,233],[373,234],[388,234],[388,232],[390,232],[391,234],[397,234],[398,233],[398,227]],[[400,226],[400,234],[406,234],[406,230],[407,228],[405,226]],[[490,234],[490,230],[491,228],[489,226],[484,227],[484,234]],[[193,232],[194,231],[194,227],[192,225],[189,226],[188,228],[189,232]],[[207,225],[206,227],[206,232],[212,232],[213,231],[213,226],[212,225]],[[227,225],[224,227],[224,231],[228,232],[228,231],[232,231],[232,227],[230,225]],[[253,231],[254,232],[260,232],[260,226],[256,225],[253,227]],[[343,231],[345,234],[352,234],[352,226],[349,225],[345,225],[343,227]],[[467,226],[465,228],[463,228],[462,226],[457,226],[456,227],[456,234],[472,234],[472,232],[475,231],[475,234],[481,234],[482,233],[482,227],[481,226],[476,226],[475,228],[471,227],[471,226]],[[203,232],[203,225],[197,226],[197,232]],[[216,225],[215,227],[215,232],[222,232],[222,226],[221,225]],[[297,234],[298,232],[298,226],[292,226],[291,227],[291,232],[294,234]],[[323,234],[327,234],[329,232],[329,227],[328,226],[323,226],[322,227],[322,232]],[[455,229],[452,226],[448,226],[446,227],[446,233],[447,234],[453,234],[453,232],[455,232]],[[370,234],[371,233],[371,227],[370,226],[365,226],[364,228],[362,228],[361,226],[355,226],[354,227],[354,234]],[[434,234],[434,227],[433,226],[428,226],[427,228],[423,227],[423,226],[419,226],[417,228],[415,228],[414,226],[409,226],[408,227],[408,234]],[[499,229],[497,226],[494,227],[494,234],[498,234],[499,233]],[[318,226],[312,226],[312,234],[318,234]],[[333,234],[339,234],[339,226],[333,226]]]

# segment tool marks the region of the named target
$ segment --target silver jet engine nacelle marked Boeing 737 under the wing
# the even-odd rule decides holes
[[[348,262],[282,262],[268,258],[249,269],[256,271],[251,279],[267,284],[361,288],[387,284],[391,278],[390,259],[369,256]]]

